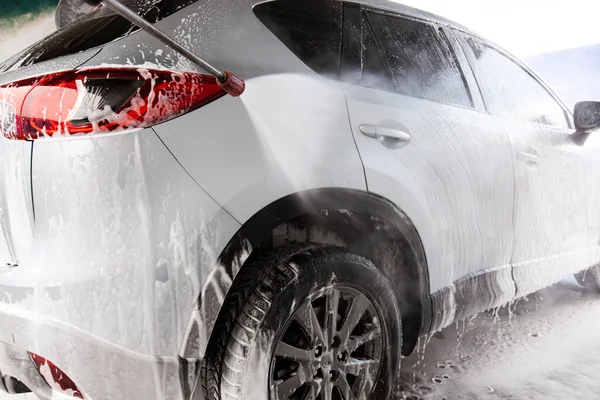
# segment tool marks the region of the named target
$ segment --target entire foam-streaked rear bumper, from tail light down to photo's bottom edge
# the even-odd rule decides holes
[[[189,399],[201,354],[181,349],[239,224],[152,129],[36,141],[31,175],[31,245],[0,273],[0,373],[48,397],[32,352],[86,398]]]

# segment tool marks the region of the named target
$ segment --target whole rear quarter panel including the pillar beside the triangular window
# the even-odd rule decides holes
[[[255,1],[200,0],[158,23],[219,69],[246,80],[224,97],[154,129],[193,178],[240,222],[285,195],[366,189],[337,81],[305,66],[255,16]],[[143,32],[107,45],[85,66],[196,70]]]

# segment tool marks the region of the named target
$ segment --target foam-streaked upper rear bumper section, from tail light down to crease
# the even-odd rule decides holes
[[[0,275],[2,300],[130,351],[177,354],[239,224],[151,129],[38,140],[34,154],[34,240]]]

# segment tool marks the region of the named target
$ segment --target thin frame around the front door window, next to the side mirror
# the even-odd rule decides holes
[[[552,99],[554,99],[556,104],[562,109],[563,117],[567,121],[567,126],[568,126],[567,129],[574,129],[573,114],[571,113],[569,108],[565,105],[565,103],[562,101],[562,99],[544,82],[544,80],[541,79],[525,63],[523,63],[517,57],[510,54],[508,51],[504,50],[502,47],[490,42],[489,40],[486,40],[482,37],[473,35],[468,32],[461,31],[459,29],[455,29],[455,28],[451,28],[451,29],[454,31],[454,35],[456,36],[458,42],[460,43],[460,46],[463,49],[463,52],[467,58],[467,61],[469,62],[469,65],[471,66],[471,70],[473,71],[473,76],[475,77],[475,80],[480,88],[480,93],[481,93],[481,97],[483,99],[485,109],[487,110],[487,112],[490,115],[496,115],[496,114],[492,113],[492,111],[490,110],[490,106],[485,101],[485,96],[483,95],[483,90],[481,89],[481,78],[477,76],[477,73],[475,72],[475,68],[474,68],[474,64],[477,62],[477,60],[475,59],[475,55],[473,53],[473,50],[471,49],[471,46],[469,45],[469,43],[467,43],[468,38],[474,39],[474,40],[484,44],[485,46],[488,46],[492,50],[497,51],[500,55],[506,57],[508,60],[513,62],[517,67],[519,67],[523,71],[525,71],[535,82],[537,82],[542,87],[542,89],[544,89],[546,91],[546,93],[548,93],[550,95],[550,97],[552,97]],[[549,128],[555,129],[555,130],[561,130],[561,129],[564,130],[565,129],[564,127],[561,127],[561,126],[542,124],[540,122],[535,122],[535,121],[525,120],[525,122],[536,124],[539,126],[549,127]]]

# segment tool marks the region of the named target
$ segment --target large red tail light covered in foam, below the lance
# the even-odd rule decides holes
[[[126,68],[67,71],[0,86],[9,139],[117,132],[175,118],[225,95],[211,76]]]

